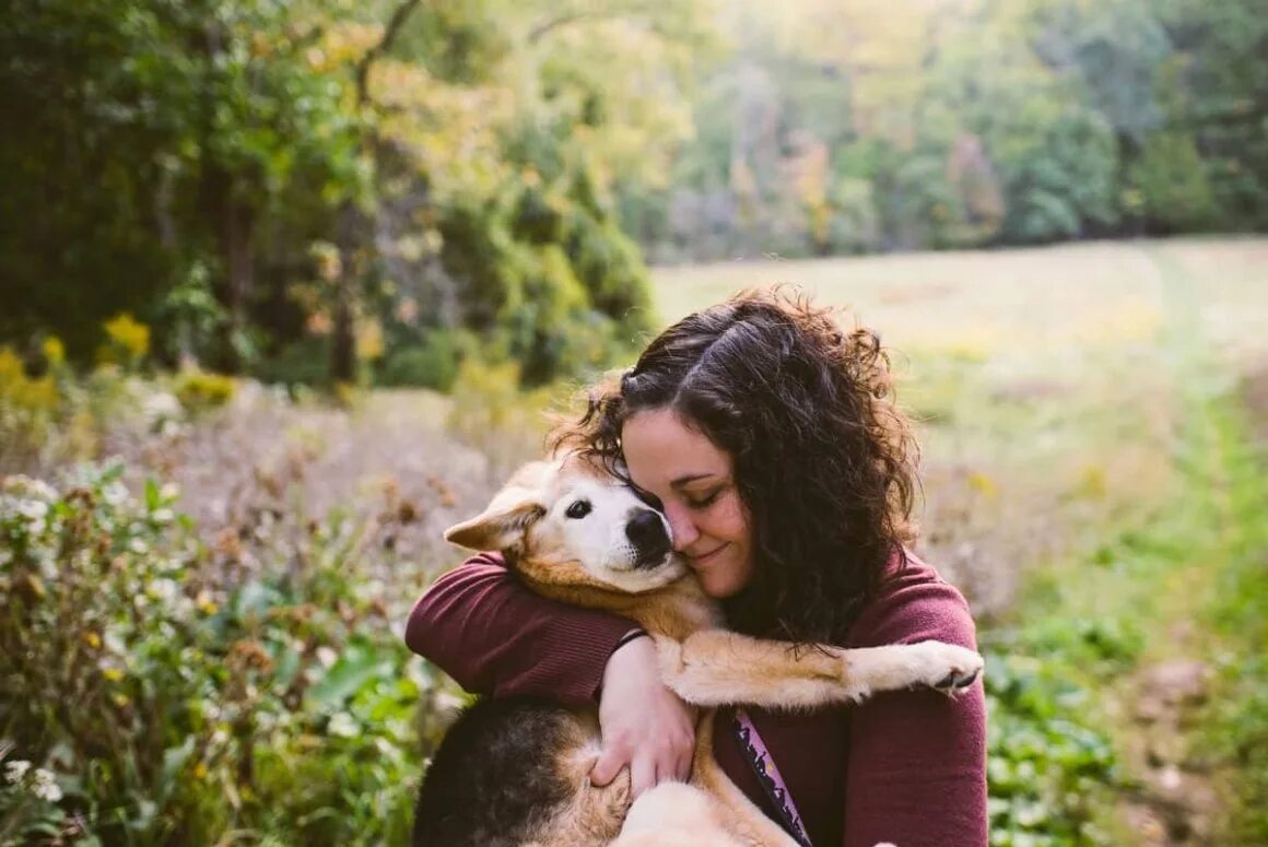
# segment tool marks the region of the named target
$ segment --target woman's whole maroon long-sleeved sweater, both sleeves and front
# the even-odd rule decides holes
[[[533,593],[496,553],[450,571],[418,600],[406,643],[468,691],[535,694],[593,704],[629,620]],[[847,647],[940,639],[975,648],[960,592],[909,557],[851,630]],[[784,714],[752,709],[815,847],[890,841],[987,843],[985,705],[981,682],[959,699],[935,691],[877,695],[860,706]],[[714,751],[728,776],[768,815],[766,794],[728,729]]]

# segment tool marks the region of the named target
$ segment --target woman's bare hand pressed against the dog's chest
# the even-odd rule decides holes
[[[607,659],[598,725],[604,752],[590,772],[592,784],[607,785],[629,765],[637,798],[658,782],[691,776],[696,710],[661,681],[650,638],[635,638]]]

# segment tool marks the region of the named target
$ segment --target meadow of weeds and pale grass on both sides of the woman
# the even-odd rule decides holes
[[[993,843],[1268,839],[1268,240],[663,268],[659,322],[775,281],[891,349]],[[0,843],[399,843],[463,701],[404,615],[574,387],[42,380],[0,383]]]

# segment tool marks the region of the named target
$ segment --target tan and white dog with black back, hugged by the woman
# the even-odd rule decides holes
[[[714,760],[714,709],[810,709],[913,686],[952,694],[983,669],[973,650],[940,642],[794,650],[727,631],[716,604],[673,553],[664,517],[574,454],[525,465],[445,539],[502,550],[545,597],[638,621],[656,640],[664,682],[701,711],[690,782],[662,784],[631,806],[628,772],[607,786],[590,784],[601,748],[597,709],[481,700],[455,721],[427,770],[416,847],[791,846]]]

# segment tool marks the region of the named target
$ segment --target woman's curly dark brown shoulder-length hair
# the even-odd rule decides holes
[[[844,644],[885,563],[914,538],[918,446],[875,332],[786,288],[749,290],[662,332],[558,430],[624,477],[621,427],[668,408],[734,462],[753,577],[723,605],[738,631]]]

